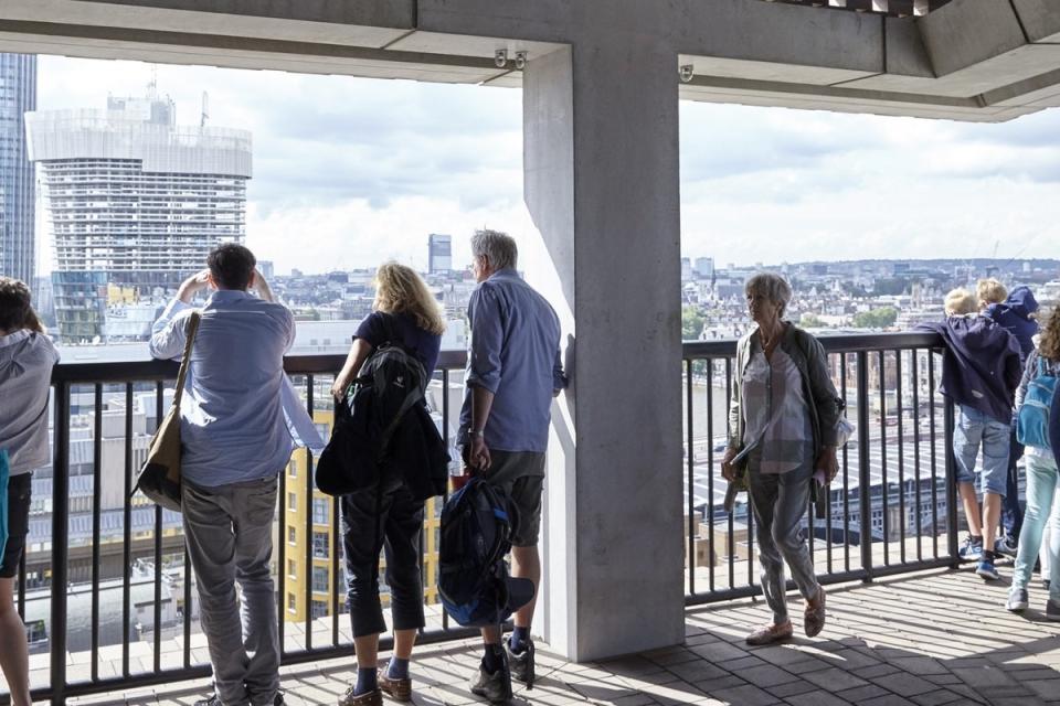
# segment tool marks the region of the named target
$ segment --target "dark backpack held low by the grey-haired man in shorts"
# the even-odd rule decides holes
[[[467,628],[498,625],[533,598],[533,581],[508,576],[505,555],[519,525],[504,491],[473,478],[442,510],[438,593]]]

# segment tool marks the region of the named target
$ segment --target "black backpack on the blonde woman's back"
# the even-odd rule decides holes
[[[372,351],[353,381],[349,402],[335,404],[331,439],[317,461],[317,488],[347,495],[374,486],[392,452],[402,419],[424,398],[426,374],[416,356],[399,343],[391,321],[389,341]]]

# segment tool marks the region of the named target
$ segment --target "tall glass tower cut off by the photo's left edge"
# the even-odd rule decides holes
[[[0,54],[0,275],[33,284],[35,182],[25,113],[36,109],[36,56]]]

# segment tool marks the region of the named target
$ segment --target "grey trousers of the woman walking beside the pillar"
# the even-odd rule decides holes
[[[814,574],[814,561],[799,527],[809,503],[809,480],[814,475],[813,459],[786,473],[760,473],[756,459],[749,463],[749,490],[754,522],[757,525],[759,563],[762,567],[762,592],[776,623],[787,620],[784,561],[803,598],[812,598],[820,588]]]

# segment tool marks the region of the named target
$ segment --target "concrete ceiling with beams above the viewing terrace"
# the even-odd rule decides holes
[[[904,18],[671,0],[644,29],[615,3],[3,0],[0,51],[519,86],[516,52],[650,31],[677,55],[675,82],[691,67],[691,100],[981,121],[1060,106],[1060,0],[951,0]]]

